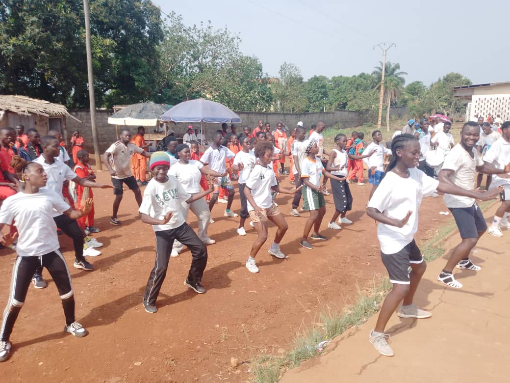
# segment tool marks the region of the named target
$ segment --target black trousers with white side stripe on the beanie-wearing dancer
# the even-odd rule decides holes
[[[191,251],[193,260],[191,261],[191,268],[188,273],[188,281],[191,283],[200,282],[203,270],[206,269],[207,265],[206,245],[200,241],[198,235],[196,235],[187,223],[184,223],[175,229],[156,231],[155,234],[156,263],[150,272],[147,287],[145,288],[145,295],[143,296],[143,300],[152,305],[156,303],[161,286],[165,280],[174,240],[181,242]]]

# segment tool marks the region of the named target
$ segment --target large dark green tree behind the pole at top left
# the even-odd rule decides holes
[[[146,99],[163,37],[159,9],[148,0],[92,0],[96,104]],[[88,106],[85,21],[81,0],[0,3],[0,92]]]

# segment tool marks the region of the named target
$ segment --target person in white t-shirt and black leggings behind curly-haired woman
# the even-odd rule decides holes
[[[253,169],[253,166],[255,166],[257,161],[253,151],[251,150],[253,139],[243,135],[239,138],[239,143],[241,144],[242,149],[234,157],[234,163],[232,165],[234,172],[239,172],[239,180],[237,185],[239,187],[239,199],[241,200],[241,211],[239,212],[241,219],[239,220],[237,233],[239,235],[246,235],[246,231],[244,230],[244,223],[250,214],[248,213],[248,204],[246,196],[244,195],[244,187],[246,186],[246,177],[249,175],[251,169]]]

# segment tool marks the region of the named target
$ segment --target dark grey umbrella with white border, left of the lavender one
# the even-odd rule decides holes
[[[151,101],[128,105],[108,117],[108,124],[157,126],[158,121],[171,105],[155,104]]]

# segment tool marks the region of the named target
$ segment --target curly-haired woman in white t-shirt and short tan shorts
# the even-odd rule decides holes
[[[271,192],[294,195],[298,189],[280,187],[276,181],[273,170],[268,166],[273,157],[273,145],[268,141],[259,141],[254,149],[254,155],[259,163],[254,165],[246,176],[244,195],[246,196],[248,212],[257,230],[257,239],[251,246],[250,255],[246,260],[246,268],[251,273],[258,273],[259,268],[255,263],[255,256],[267,240],[268,220],[277,226],[274,242],[269,248],[269,254],[276,258],[285,258],[286,255],[280,249],[280,242],[289,228],[285,217],[273,202]]]

